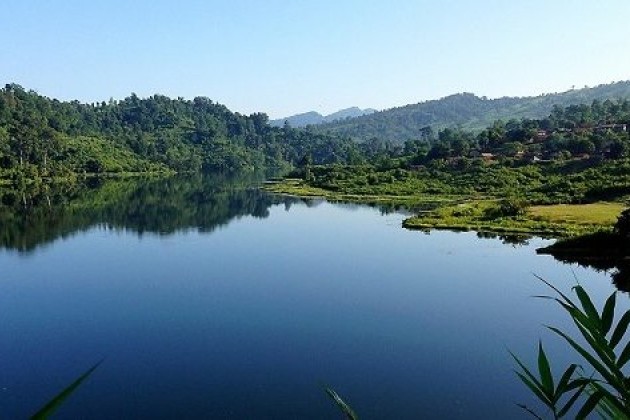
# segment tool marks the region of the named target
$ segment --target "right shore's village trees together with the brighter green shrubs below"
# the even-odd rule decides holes
[[[543,119],[496,121],[478,132],[427,128],[403,145],[369,141],[370,164],[302,167],[328,191],[373,196],[517,196],[583,203],[630,194],[630,101],[555,106]]]

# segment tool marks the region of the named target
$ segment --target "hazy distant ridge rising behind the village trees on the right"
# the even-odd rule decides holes
[[[321,133],[365,141],[372,138],[403,142],[418,139],[420,130],[450,127],[480,131],[495,120],[542,118],[554,105],[590,104],[593,100],[630,98],[630,81],[535,97],[487,99],[461,93],[442,99],[392,108],[370,115],[314,126]]]

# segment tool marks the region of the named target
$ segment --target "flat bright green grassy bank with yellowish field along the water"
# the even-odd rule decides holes
[[[500,210],[502,200],[472,195],[347,194],[313,187],[299,179],[267,183],[263,189],[303,198],[321,197],[329,201],[398,204],[420,209],[417,215],[403,221],[402,226],[407,229],[474,230],[547,238],[567,238],[610,231],[625,208],[624,204],[617,202],[551,204],[524,207],[516,209],[514,214],[505,214]]]

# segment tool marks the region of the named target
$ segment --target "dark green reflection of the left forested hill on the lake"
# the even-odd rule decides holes
[[[197,175],[0,190],[0,247],[30,251],[97,225],[140,235],[189,228],[212,232],[235,217],[264,218],[270,206],[295,201],[252,188],[253,181]]]

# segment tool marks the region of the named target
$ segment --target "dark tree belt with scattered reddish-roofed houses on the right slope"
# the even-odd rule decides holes
[[[370,163],[390,168],[413,168],[432,161],[466,167],[474,160],[510,166],[620,159],[630,154],[630,101],[556,105],[545,118],[497,120],[477,132],[453,128],[436,132],[427,126],[414,140],[400,144],[373,138],[361,143],[360,149]]]

